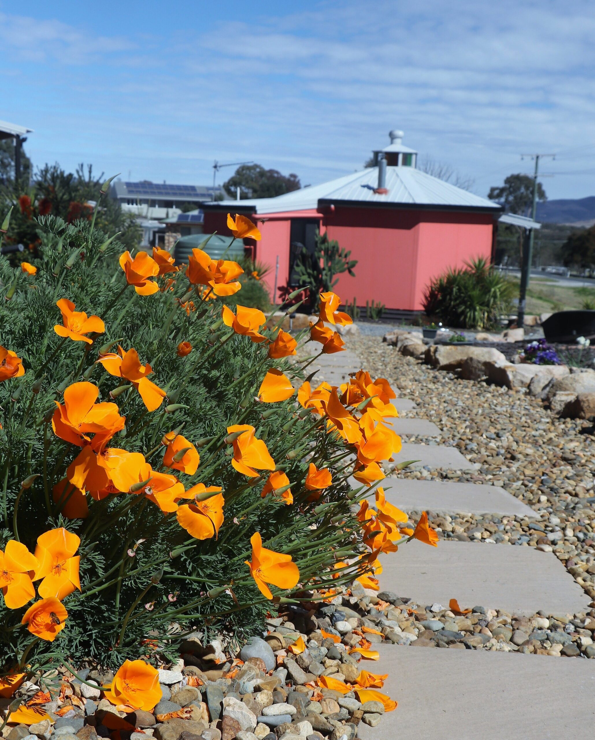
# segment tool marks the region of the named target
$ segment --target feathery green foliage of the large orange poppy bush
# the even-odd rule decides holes
[[[138,295],[118,266],[124,247],[93,224],[67,225],[50,216],[39,219],[38,234],[36,275],[0,258],[0,344],[24,367],[22,377],[0,382],[0,548],[18,539],[33,553],[42,533],[67,529],[81,539],[81,591],[64,599],[68,617],[55,642],[21,625],[29,604],[7,608],[0,598],[0,675],[24,665],[33,673],[65,660],[117,666],[155,654],[147,653],[147,636],[151,650],[173,657],[179,640],[197,628],[207,641],[223,633],[237,644],[292,593],[324,590],[362,573],[362,562],[333,571],[337,561],[366,551],[363,525],[351,512],[358,496],[346,480],[352,446],[327,429],[324,416],[301,408],[295,396],[280,403],[256,398],[270,368],[299,385],[299,363],[269,359],[268,340],[253,343],[223,326],[222,300],[190,285],[185,272],[155,278],[160,290]],[[104,333],[90,335],[93,344],[56,334],[56,301],[64,297],[77,311],[104,321]],[[261,331],[267,339],[274,336]],[[176,349],[182,342],[192,346],[184,357]],[[97,363],[118,345],[134,348],[141,363],[150,363],[150,380],[167,393],[155,411],[147,410],[127,380]],[[111,448],[140,452],[153,471],[175,473],[184,488],[199,482],[221,486],[224,521],[218,536],[189,536],[175,512],[164,514],[147,499],[147,481],[101,500],[83,494],[88,516],[65,516],[72,491],[53,491],[70,476],[81,448],[55,434],[53,414],[64,403],[64,390],[82,382],[97,386],[98,401],[117,403],[126,417],[109,440]],[[232,467],[234,435],[226,430],[235,424],[252,425],[268,445],[291,482],[292,505],[278,495],[261,496],[268,471],[246,477]],[[196,474],[164,468],[161,440],[172,431],[198,448]],[[332,485],[319,499],[304,486],[309,462],[332,472]],[[244,562],[256,531],[267,548],[292,556],[300,571],[292,593],[273,589],[275,603],[258,591]]]

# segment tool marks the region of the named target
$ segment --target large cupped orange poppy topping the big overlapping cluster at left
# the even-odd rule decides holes
[[[124,428],[126,417],[120,416],[115,403],[95,403],[99,388],[93,383],[73,383],[64,391],[64,403],[56,401],[52,417],[54,433],[73,445],[91,445],[98,450]],[[94,434],[93,439],[89,436]]]

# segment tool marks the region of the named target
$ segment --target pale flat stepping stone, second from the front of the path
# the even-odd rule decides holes
[[[440,540],[434,548],[413,540],[380,561],[380,589],[422,605],[457,599],[463,608],[531,616],[539,610],[574,614],[591,603],[553,553],[520,545]]]

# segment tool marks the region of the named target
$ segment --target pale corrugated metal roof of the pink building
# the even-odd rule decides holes
[[[277,198],[254,198],[245,201],[204,203],[209,210],[241,209],[253,213],[305,211],[331,204],[347,206],[421,207],[437,209],[481,209],[500,212],[502,206],[487,198],[446,183],[409,166],[386,168],[386,195],[374,190],[378,184],[378,168],[367,167],[360,172],[343,175],[321,185],[309,186],[278,195]],[[241,205],[240,205],[241,203]]]

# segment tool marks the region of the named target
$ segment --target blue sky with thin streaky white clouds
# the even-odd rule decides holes
[[[317,184],[396,127],[480,195],[557,152],[549,197],[581,198],[594,38],[591,0],[0,0],[0,119],[38,165],[197,184],[215,159]]]

